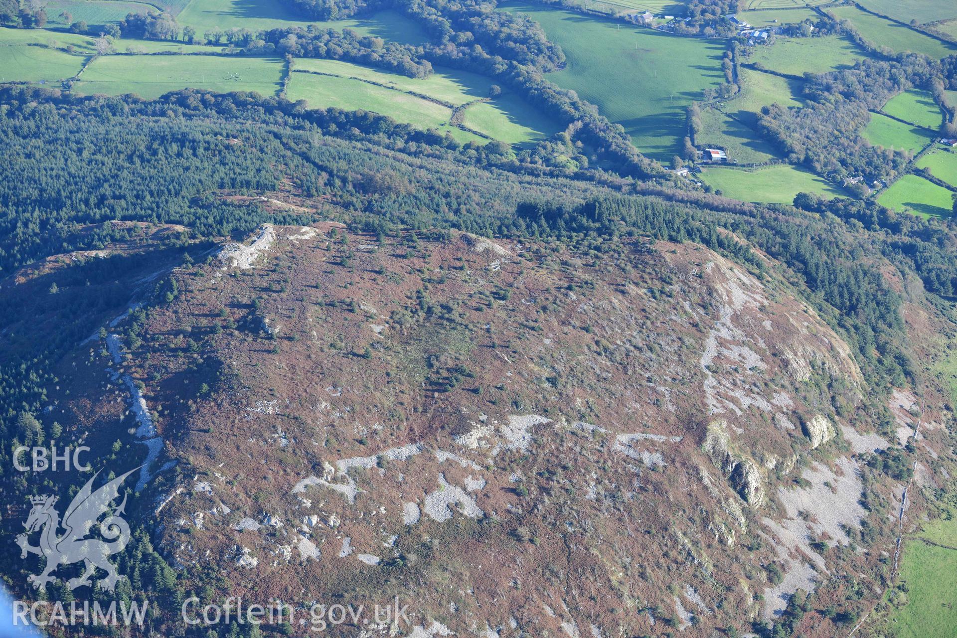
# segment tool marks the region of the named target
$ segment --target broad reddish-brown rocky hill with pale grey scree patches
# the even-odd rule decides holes
[[[896,484],[863,461],[891,437],[777,275],[331,223],[215,254],[130,273],[145,305],[102,311],[52,392],[145,458],[138,516],[195,587],[399,596],[412,635],[479,636],[707,635],[850,573],[877,595]]]

